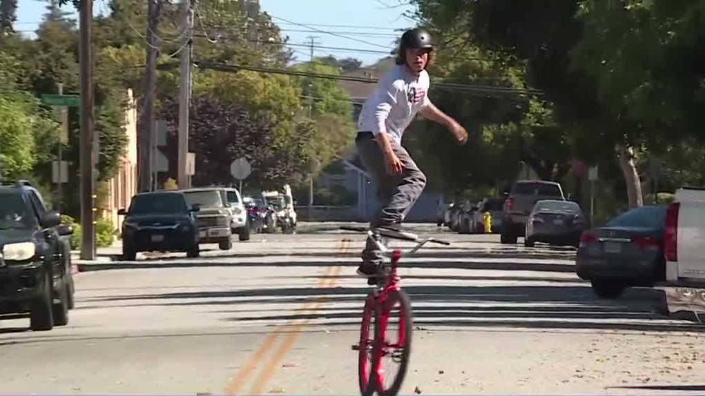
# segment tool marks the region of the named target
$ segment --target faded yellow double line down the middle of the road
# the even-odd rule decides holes
[[[350,252],[350,242],[351,241],[347,239],[338,242],[338,245],[336,246],[337,253],[348,254]],[[342,268],[343,267],[341,266],[326,267],[323,276],[317,282],[316,288],[325,289],[335,287],[338,283],[337,276],[341,273]],[[321,297],[309,297],[305,300],[305,304],[295,309],[295,311],[304,316],[307,314],[316,314],[317,311],[319,311],[319,309],[329,299],[330,297],[325,295]],[[279,347],[274,351],[274,354],[271,355],[269,361],[266,361],[266,364],[262,366],[262,371],[259,372],[259,376],[257,376],[255,382],[252,384],[250,395],[261,395],[263,393],[264,386],[269,381],[271,376],[274,375],[279,362],[284,356],[286,356],[289,349],[293,347],[302,327],[310,321],[311,319],[291,319],[283,325],[278,326],[274,332],[269,333],[269,335],[267,335],[262,342],[262,345],[259,346],[259,349],[252,354],[250,359],[247,360],[245,366],[243,366],[243,368],[240,369],[240,371],[238,371],[235,375],[235,378],[233,378],[231,383],[228,385],[228,388],[226,388],[226,394],[240,394],[240,390],[244,388],[247,379],[252,378],[252,374],[255,369],[257,369],[259,363],[263,361],[265,355],[274,347],[274,345],[276,345],[279,338],[283,338],[281,345],[279,345]]]

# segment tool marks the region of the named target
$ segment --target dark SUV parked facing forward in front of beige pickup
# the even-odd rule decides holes
[[[130,209],[118,214],[123,221],[123,259],[135,260],[137,252],[186,252],[200,254],[195,212],[182,192],[145,192],[136,194]]]

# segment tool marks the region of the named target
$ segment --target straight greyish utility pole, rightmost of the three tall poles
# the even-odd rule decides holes
[[[192,51],[192,30],[193,11],[191,1],[183,0],[183,21],[182,28],[185,39],[188,40],[186,47],[181,50],[181,88],[178,102],[178,187],[190,187],[190,180],[186,174],[188,158],[188,111],[191,104],[191,51]]]

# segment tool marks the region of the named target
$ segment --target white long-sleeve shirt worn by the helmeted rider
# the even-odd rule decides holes
[[[357,130],[375,136],[386,133],[393,142],[401,144],[404,130],[416,113],[431,103],[429,85],[426,70],[417,77],[404,65],[393,66],[362,105]]]

